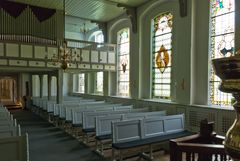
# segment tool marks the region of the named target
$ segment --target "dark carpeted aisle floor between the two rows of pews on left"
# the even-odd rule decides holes
[[[12,110],[22,133],[29,135],[30,161],[104,161],[88,147],[39,116],[24,110]]]

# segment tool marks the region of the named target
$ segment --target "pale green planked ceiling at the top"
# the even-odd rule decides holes
[[[45,8],[63,9],[63,0],[11,0]],[[69,16],[82,19],[109,21],[122,13],[118,3],[137,7],[150,0],[65,0],[65,12]]]

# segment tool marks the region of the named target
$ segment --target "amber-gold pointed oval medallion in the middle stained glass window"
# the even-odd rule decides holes
[[[169,54],[167,49],[162,45],[156,57],[156,64],[161,73],[165,71],[169,63]]]

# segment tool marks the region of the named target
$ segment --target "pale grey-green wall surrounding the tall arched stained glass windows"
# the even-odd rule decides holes
[[[209,0],[187,1],[187,16],[180,17],[178,0],[152,0],[137,10],[138,32],[130,32],[131,98],[151,100],[151,19],[158,14],[173,13],[172,102],[180,105],[208,105]],[[240,1],[236,3],[236,49],[240,47]],[[116,43],[117,31],[131,28],[126,14],[108,23],[108,40]],[[104,73],[104,95],[115,96],[117,73]],[[91,86],[91,85],[90,85]],[[158,100],[159,106],[165,104]]]

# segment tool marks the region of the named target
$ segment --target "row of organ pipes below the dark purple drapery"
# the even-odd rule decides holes
[[[0,7],[0,41],[58,45],[63,41],[63,16],[63,11],[56,10],[47,20],[39,21],[29,6],[17,17]]]

